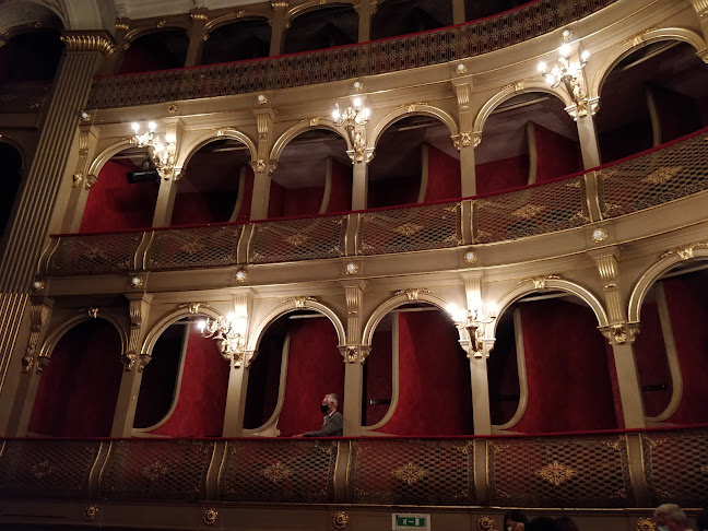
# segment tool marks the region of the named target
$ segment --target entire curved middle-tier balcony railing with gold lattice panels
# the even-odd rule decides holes
[[[40,272],[176,271],[491,244],[580,227],[707,189],[708,131],[701,130],[598,170],[496,196],[248,224],[51,236]]]

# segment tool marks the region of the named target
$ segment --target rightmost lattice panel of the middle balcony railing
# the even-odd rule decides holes
[[[616,217],[708,189],[708,133],[598,172],[603,217]]]

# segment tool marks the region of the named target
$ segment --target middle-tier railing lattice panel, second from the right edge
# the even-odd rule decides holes
[[[488,244],[590,222],[582,176],[474,200],[473,241]]]

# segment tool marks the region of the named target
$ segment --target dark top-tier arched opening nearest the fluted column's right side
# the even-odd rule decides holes
[[[150,72],[182,68],[187,59],[189,37],[182,28],[149,33],[130,43],[118,73]]]

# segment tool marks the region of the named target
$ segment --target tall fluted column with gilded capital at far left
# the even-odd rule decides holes
[[[28,337],[27,298],[37,259],[47,235],[61,226],[71,190],[67,163],[78,141],[79,120],[93,75],[115,50],[106,32],[67,32],[50,104],[35,156],[16,200],[5,248],[0,251],[0,429],[4,432],[16,373],[9,375],[17,340]],[[12,364],[20,368],[19,362]]]

